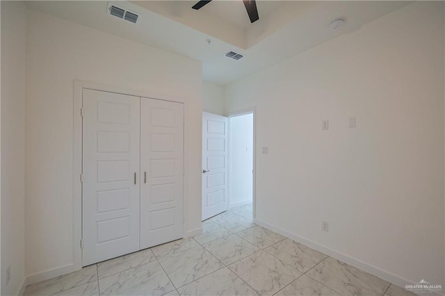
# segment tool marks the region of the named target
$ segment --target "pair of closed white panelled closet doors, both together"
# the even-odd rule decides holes
[[[183,105],[83,90],[83,265],[183,236]]]

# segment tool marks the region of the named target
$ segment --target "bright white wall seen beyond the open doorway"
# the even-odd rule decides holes
[[[229,207],[234,207],[252,202],[253,113],[229,122]]]

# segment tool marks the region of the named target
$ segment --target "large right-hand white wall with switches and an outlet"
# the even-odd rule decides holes
[[[444,285],[444,79],[444,2],[420,1],[229,85],[227,113],[257,107],[257,220]]]

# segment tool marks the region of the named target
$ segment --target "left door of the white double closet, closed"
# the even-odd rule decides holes
[[[83,90],[83,265],[139,249],[140,98]]]

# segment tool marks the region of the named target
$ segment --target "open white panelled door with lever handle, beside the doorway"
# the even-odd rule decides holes
[[[202,113],[202,220],[227,211],[227,123]]]

